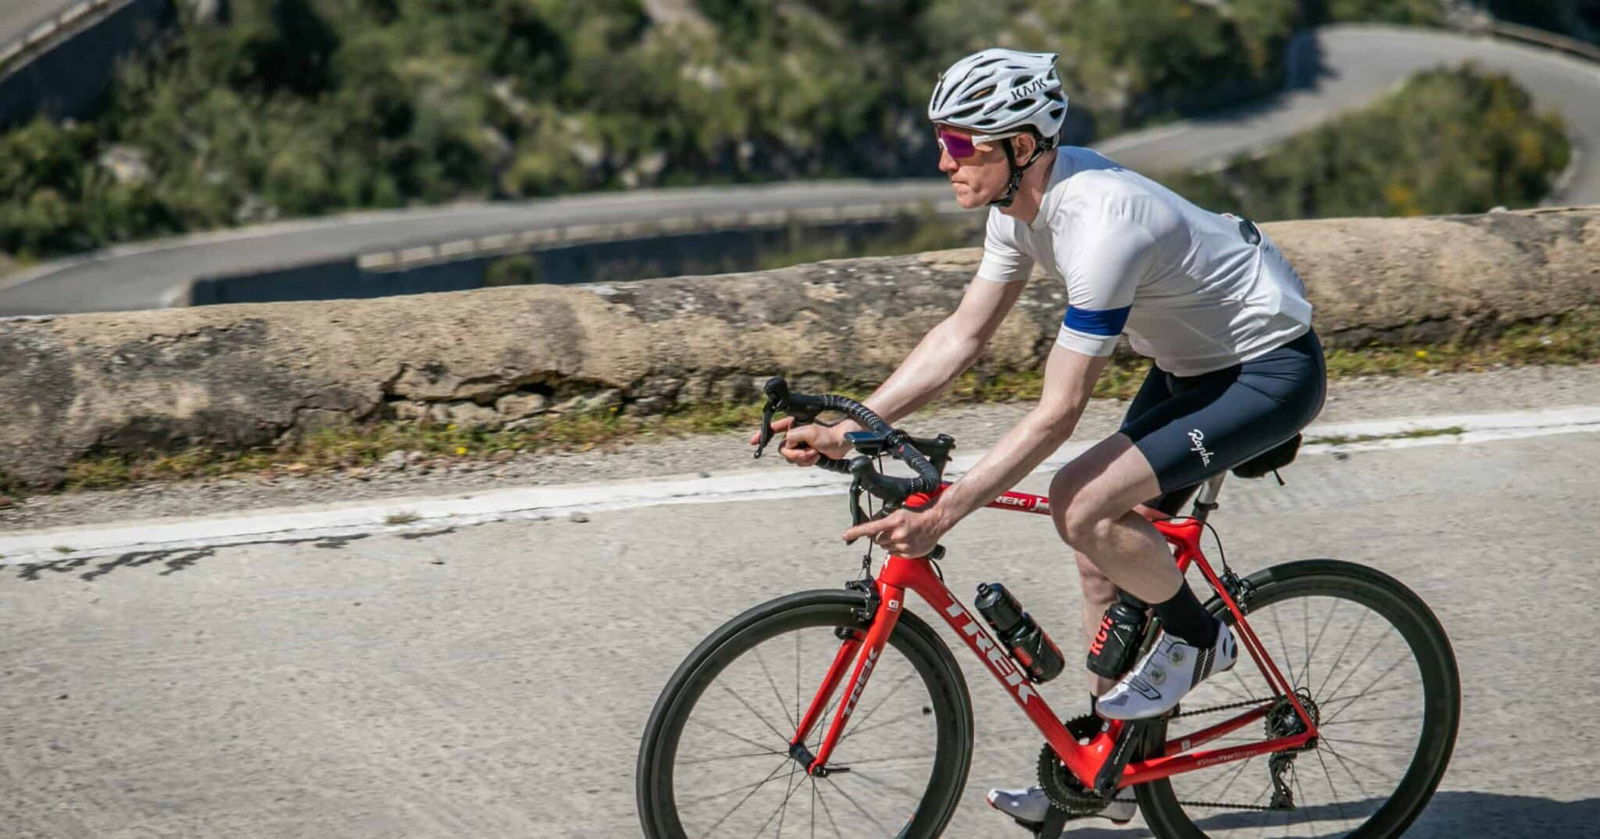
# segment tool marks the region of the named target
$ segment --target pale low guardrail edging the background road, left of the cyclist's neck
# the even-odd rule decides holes
[[[363,253],[355,258],[362,271],[400,271],[429,263],[446,263],[472,256],[526,253],[568,245],[597,242],[626,242],[658,235],[682,235],[715,231],[749,231],[782,227],[786,224],[837,224],[851,221],[883,221],[928,208],[926,200],[880,202],[850,207],[818,207],[810,210],[752,210],[741,213],[696,213],[664,216],[648,221],[621,221],[614,224],[573,224],[566,227],[538,227],[517,234],[493,234],[474,239],[456,239],[432,245]],[[960,211],[954,200],[931,205],[934,215]]]

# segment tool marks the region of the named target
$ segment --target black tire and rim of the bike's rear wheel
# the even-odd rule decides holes
[[[1246,583],[1250,583],[1250,594],[1242,604],[1246,615],[1253,616],[1258,610],[1293,597],[1347,599],[1379,613],[1405,639],[1421,672],[1422,724],[1416,751],[1389,799],[1366,821],[1346,834],[1352,839],[1400,836],[1432,799],[1450,765],[1456,741],[1461,719],[1461,676],[1445,629],[1427,604],[1405,584],[1382,572],[1352,562],[1331,559],[1288,562],[1253,573]],[[1221,599],[1213,597],[1206,608],[1221,615],[1229,624],[1235,623]],[[1253,620],[1251,626],[1259,626],[1259,621]],[[1243,658],[1248,656],[1242,653],[1240,664],[1246,663]],[[1166,740],[1166,721],[1160,721],[1150,729],[1147,743],[1154,746],[1155,753]],[[1139,785],[1134,793],[1139,810],[1155,836],[1162,839],[1206,837],[1206,833],[1179,804],[1171,780],[1163,778]]]

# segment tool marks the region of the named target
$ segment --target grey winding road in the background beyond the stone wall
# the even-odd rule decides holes
[[[1600,64],[1554,50],[1453,32],[1331,26],[1291,46],[1290,90],[1251,106],[1110,138],[1096,147],[1149,173],[1205,168],[1259,151],[1378,99],[1405,77],[1475,61],[1507,72],[1566,118],[1576,152],[1550,203],[1600,203]],[[61,259],[0,279],[0,315],[155,309],[181,304],[189,282],[448,240],[574,224],[750,211],[949,202],[942,179],[830,181],[637,191],[534,202],[354,213],[144,242]]]

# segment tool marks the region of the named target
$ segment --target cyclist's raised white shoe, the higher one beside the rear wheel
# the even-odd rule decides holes
[[[1230,669],[1238,644],[1226,623],[1218,624],[1216,644],[1203,650],[1162,632],[1150,652],[1094,703],[1094,713],[1104,719],[1158,717],[1208,676]]]

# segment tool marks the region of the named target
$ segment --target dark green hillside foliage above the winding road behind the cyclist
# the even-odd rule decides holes
[[[346,208],[928,175],[928,90],[968,51],[1061,53],[1067,139],[1086,143],[1275,86],[1298,26],[1438,0],[1328,3],[698,0],[654,3],[658,19],[643,0],[232,0],[226,24],[184,22],[125,66],[93,122],[0,134],[0,250]],[[144,171],[114,176],[112,149]]]

